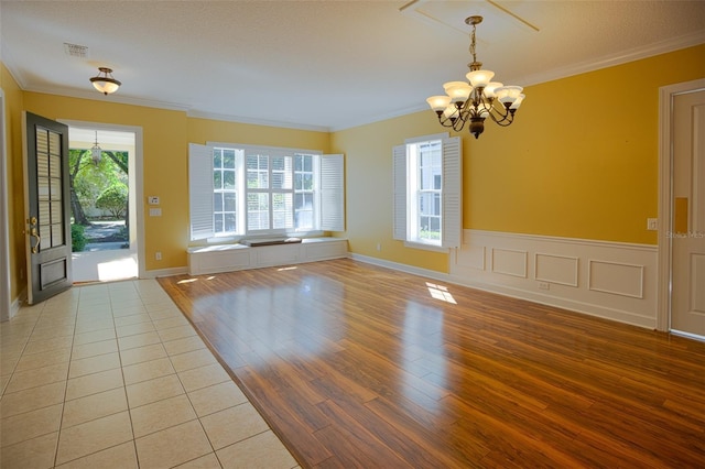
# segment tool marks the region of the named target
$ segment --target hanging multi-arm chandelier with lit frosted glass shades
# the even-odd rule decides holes
[[[475,52],[475,30],[482,22],[482,17],[469,17],[465,23],[473,26],[470,33],[470,54],[473,62],[468,64],[470,72],[466,81],[448,81],[443,85],[446,96],[432,96],[426,99],[431,109],[436,111],[438,122],[456,132],[462,131],[469,122],[469,131],[477,139],[485,130],[488,117],[501,127],[514,121],[514,113],[524,95],[520,86],[505,86],[499,81],[490,81],[495,72],[481,69]]]

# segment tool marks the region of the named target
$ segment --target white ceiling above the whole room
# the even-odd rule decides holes
[[[527,102],[533,84],[705,43],[705,1],[2,0],[0,54],[24,90],[327,131],[464,79],[471,14],[478,59]],[[99,66],[115,95],[88,81]]]

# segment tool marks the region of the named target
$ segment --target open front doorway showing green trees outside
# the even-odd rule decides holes
[[[73,163],[74,283],[139,277],[141,129],[64,122]]]

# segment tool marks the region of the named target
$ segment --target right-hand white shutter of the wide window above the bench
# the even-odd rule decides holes
[[[321,229],[345,231],[345,157],[321,156]]]

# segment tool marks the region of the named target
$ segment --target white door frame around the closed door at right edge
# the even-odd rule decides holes
[[[657,329],[671,330],[673,227],[673,97],[705,89],[705,78],[659,88],[659,254]]]

